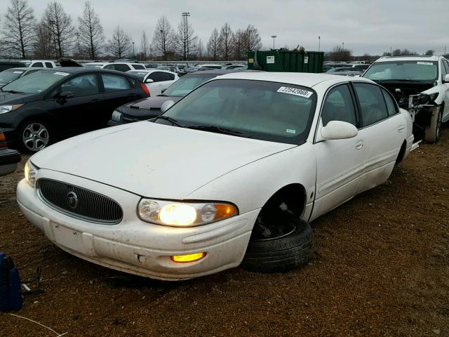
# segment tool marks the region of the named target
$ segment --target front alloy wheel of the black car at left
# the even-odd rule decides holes
[[[20,128],[18,138],[22,150],[35,153],[50,144],[50,131],[42,121],[25,121]]]

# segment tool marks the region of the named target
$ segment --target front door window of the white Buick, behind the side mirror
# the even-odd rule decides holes
[[[330,121],[346,121],[356,126],[356,110],[346,84],[336,86],[329,91],[324,100],[321,121],[323,126]]]

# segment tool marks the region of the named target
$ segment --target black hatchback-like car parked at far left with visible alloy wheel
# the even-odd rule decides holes
[[[37,152],[57,140],[105,127],[116,107],[148,97],[133,75],[60,67],[0,88],[0,128],[8,143]]]

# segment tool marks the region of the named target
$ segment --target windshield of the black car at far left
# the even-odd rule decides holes
[[[20,79],[16,79],[10,84],[6,84],[1,90],[18,91],[21,93],[41,93],[67,75],[69,75],[68,72],[39,70],[27,76],[20,77]]]

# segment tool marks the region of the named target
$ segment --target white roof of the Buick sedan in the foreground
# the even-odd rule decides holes
[[[363,77],[349,78],[339,75],[311,74],[306,72],[233,72],[232,74],[225,74],[215,79],[250,79],[255,81],[295,84],[297,86],[308,86],[309,88],[325,81],[330,81],[332,84],[347,81],[367,81]],[[368,82],[372,83],[370,80]]]

